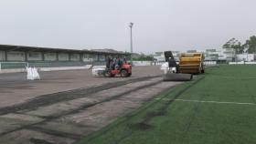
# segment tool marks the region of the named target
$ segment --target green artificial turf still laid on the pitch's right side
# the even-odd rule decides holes
[[[78,143],[256,143],[256,105],[218,103],[256,103],[255,66],[209,68],[205,75],[158,98]]]

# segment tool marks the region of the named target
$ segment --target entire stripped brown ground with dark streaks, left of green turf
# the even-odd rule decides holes
[[[92,77],[89,70],[0,75],[0,143],[74,143],[123,117],[178,82],[159,67],[133,67],[133,77]]]

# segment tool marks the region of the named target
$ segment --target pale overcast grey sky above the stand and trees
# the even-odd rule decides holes
[[[133,51],[219,48],[256,35],[255,0],[0,0],[0,44]]]

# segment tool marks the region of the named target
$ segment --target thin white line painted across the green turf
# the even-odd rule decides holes
[[[155,98],[155,100],[166,100],[166,101],[168,101],[168,100],[172,100],[172,99],[170,99],[170,98]],[[175,99],[175,101],[256,106],[255,103],[230,102],[230,101],[204,101],[204,100],[190,100],[190,99]]]

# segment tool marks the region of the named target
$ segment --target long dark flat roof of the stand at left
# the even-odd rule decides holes
[[[4,51],[27,51],[27,52],[69,52],[69,53],[89,53],[89,54],[109,54],[109,55],[130,55],[130,53],[124,53],[121,51],[99,51],[99,50],[87,50],[87,49],[66,49],[66,48],[50,48],[50,47],[38,47],[38,46],[13,46],[13,45],[0,45],[0,50]]]

